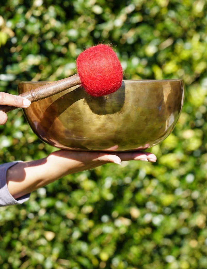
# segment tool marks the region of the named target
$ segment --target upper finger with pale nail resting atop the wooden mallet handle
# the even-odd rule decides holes
[[[31,102],[22,96],[0,92],[0,104],[26,108],[30,106]]]

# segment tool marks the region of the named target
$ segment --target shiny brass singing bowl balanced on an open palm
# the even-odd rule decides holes
[[[50,83],[20,82],[19,94]],[[116,92],[92,97],[75,86],[23,109],[34,133],[66,150],[144,150],[172,132],[184,100],[184,83],[123,80]]]

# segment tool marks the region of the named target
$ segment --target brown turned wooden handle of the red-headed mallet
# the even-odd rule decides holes
[[[81,84],[80,77],[78,74],[76,74],[71,77],[67,77],[66,79],[51,82],[46,85],[40,86],[34,90],[19,94],[19,96],[27,98],[32,103],[50,97],[56,93],[60,93],[61,91],[64,91],[79,84]],[[0,110],[5,113],[12,111],[16,108],[17,107],[11,107],[9,105],[0,105]]]

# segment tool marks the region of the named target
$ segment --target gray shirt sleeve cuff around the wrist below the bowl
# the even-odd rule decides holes
[[[10,167],[17,164],[18,162],[21,162],[21,161],[8,162],[6,164],[0,165],[0,207],[10,206],[14,204],[22,204],[26,202],[30,197],[30,193],[28,193],[22,197],[14,199],[14,197],[10,194],[8,190],[7,182],[6,182],[6,172]]]

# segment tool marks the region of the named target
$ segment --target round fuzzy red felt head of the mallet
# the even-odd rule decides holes
[[[121,63],[108,45],[86,49],[78,56],[76,64],[82,86],[92,96],[113,93],[122,85]]]

